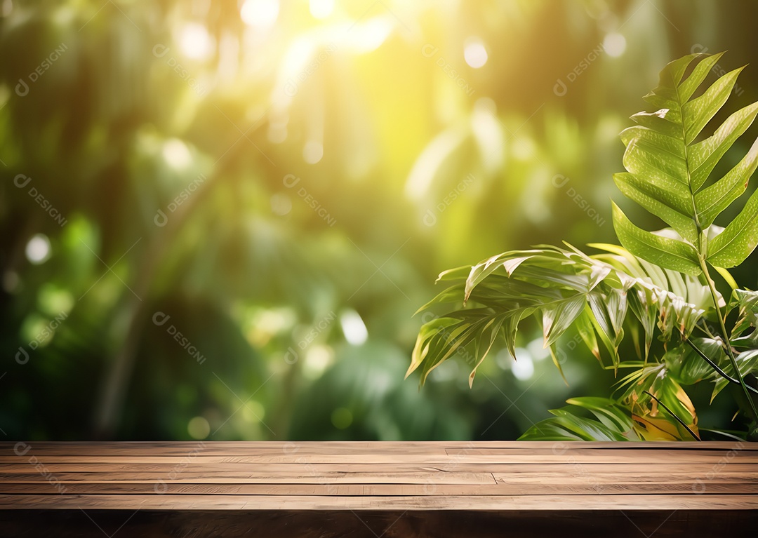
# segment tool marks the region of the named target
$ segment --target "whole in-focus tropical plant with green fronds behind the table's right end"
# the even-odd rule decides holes
[[[726,227],[714,222],[747,189],[758,141],[722,177],[712,173],[753,123],[758,103],[731,114],[711,136],[700,136],[742,70],[698,92],[722,54],[668,64],[644,97],[657,110],[634,114],[637,125],[621,133],[627,172],[615,174],[615,184],[669,227],[643,230],[613,203],[622,246],[593,244],[600,250],[594,255],[568,244],[539,246],[443,272],[438,280],[452,285],[421,310],[463,305],[421,327],[406,377],[420,369],[424,383],[437,365],[473,346],[472,383],[500,339],[515,357],[518,326],[534,316],[559,369],[556,344],[573,327],[603,368],[631,373],[617,383],[614,399],[568,400],[570,408],[551,411],[556,416],[523,439],[700,439],[684,386],[703,381],[713,384],[711,401],[725,386],[739,387],[735,399],[747,427],[737,436],[756,435],[758,292],[738,289],[727,269],[745,261],[758,243],[758,189]],[[731,288],[728,300],[713,274]],[[625,333],[637,346],[633,359],[619,354]],[[662,346],[651,352],[654,339]],[[582,416],[581,409],[594,416]]]

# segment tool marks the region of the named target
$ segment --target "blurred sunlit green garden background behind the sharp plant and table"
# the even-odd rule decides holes
[[[755,8],[0,0],[0,439],[515,439],[609,396],[539,327],[419,391],[413,314],[449,267],[615,242],[611,196],[655,228],[618,133],[690,52],[758,99]]]

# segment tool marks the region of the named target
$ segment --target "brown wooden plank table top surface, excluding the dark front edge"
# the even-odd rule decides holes
[[[756,510],[758,443],[0,443],[0,509]]]

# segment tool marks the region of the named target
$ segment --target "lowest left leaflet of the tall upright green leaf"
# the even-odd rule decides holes
[[[618,205],[613,203],[613,227],[625,249],[672,271],[700,274],[697,251],[687,243],[657,236],[631,224]]]

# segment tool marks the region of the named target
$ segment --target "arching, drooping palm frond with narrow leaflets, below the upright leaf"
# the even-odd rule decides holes
[[[669,340],[673,335],[688,334],[702,317],[700,305],[703,297],[709,296],[707,286],[697,278],[662,270],[619,246],[597,245],[608,253],[593,256],[569,247],[505,252],[456,270],[456,278],[449,279],[452,285],[424,309],[450,304],[456,308],[421,327],[408,374],[418,369],[423,384],[437,365],[458,353],[474,366],[475,375],[499,345],[500,335],[515,356],[518,325],[533,315],[543,326],[545,343],[561,375],[556,343],[572,326],[598,360],[602,342],[611,355],[612,368],[622,368],[629,364],[622,363],[619,356],[625,324],[639,319],[650,346],[656,320],[662,327],[660,337]],[[465,283],[472,282],[472,275],[475,286],[469,304],[460,308]],[[424,316],[428,315],[427,311]],[[475,353],[471,347],[476,347]]]

